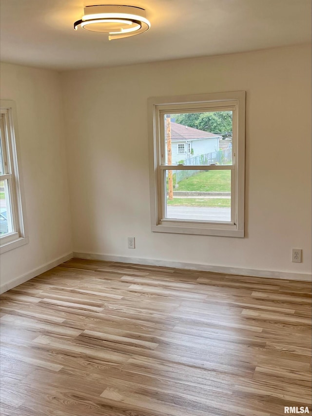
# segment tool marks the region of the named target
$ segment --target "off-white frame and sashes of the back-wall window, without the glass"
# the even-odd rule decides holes
[[[148,99],[151,230],[162,233],[244,237],[245,206],[245,91]],[[233,111],[232,165],[200,166],[231,171],[231,221],[166,218],[166,170],[198,170],[199,166],[166,165],[164,115]],[[171,169],[170,169],[171,168]]]

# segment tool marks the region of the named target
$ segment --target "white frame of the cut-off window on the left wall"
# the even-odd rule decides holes
[[[9,203],[12,209],[13,231],[0,236],[0,253],[28,243],[25,221],[25,203],[20,165],[20,145],[16,105],[13,100],[0,100],[1,141],[3,151],[3,175],[7,180]],[[9,220],[9,215],[8,215]]]

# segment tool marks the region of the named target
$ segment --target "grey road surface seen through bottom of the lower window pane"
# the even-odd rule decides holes
[[[231,221],[231,208],[167,206],[167,218]]]

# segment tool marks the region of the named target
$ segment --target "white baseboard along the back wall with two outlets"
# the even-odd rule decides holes
[[[157,260],[154,258],[135,258],[126,256],[111,256],[106,254],[74,253],[76,258],[87,260],[117,261],[121,263],[135,263],[149,266],[174,267],[177,269],[201,270],[205,272],[225,273],[227,275],[268,277],[274,279],[311,281],[308,273],[278,272],[272,270],[244,269],[238,267],[212,266],[208,264],[181,263],[179,261]]]

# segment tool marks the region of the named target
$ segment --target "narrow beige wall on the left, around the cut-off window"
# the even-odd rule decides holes
[[[1,287],[72,252],[60,76],[1,63],[1,99],[16,102],[29,243],[3,253]]]

